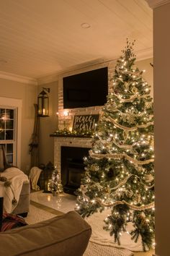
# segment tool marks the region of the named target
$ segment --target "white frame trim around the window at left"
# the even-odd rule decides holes
[[[0,108],[16,108],[16,166],[21,168],[21,127],[22,127],[22,100],[16,98],[0,97]]]

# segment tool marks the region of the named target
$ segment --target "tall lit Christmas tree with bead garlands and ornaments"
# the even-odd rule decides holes
[[[137,242],[140,235],[145,251],[153,247],[155,229],[153,103],[144,71],[135,67],[133,46],[127,40],[117,60],[112,90],[84,158],[76,210],[85,217],[111,208],[104,229],[120,244],[121,232],[132,222],[132,239]]]

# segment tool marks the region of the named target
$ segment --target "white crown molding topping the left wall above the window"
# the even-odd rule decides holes
[[[37,85],[37,80],[31,77],[23,77],[18,74],[12,74],[8,72],[0,71],[0,78],[5,80],[11,80],[16,82],[24,82],[30,85]]]

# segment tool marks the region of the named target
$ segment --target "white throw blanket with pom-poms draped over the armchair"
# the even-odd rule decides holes
[[[4,211],[6,213],[12,213],[17,205],[12,205],[12,200],[15,198],[19,201],[19,196],[22,190],[23,182],[29,182],[28,176],[16,167],[7,168],[1,173],[1,177],[4,176],[11,182],[10,187],[4,187],[4,182],[0,182],[0,197],[4,197]],[[13,192],[14,193],[13,193]]]

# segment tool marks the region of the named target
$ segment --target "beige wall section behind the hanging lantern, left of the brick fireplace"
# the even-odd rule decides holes
[[[50,82],[45,85],[39,85],[39,93],[42,87],[50,88],[49,97],[49,117],[40,117],[40,135],[39,135],[39,163],[47,164],[54,162],[54,138],[50,134],[57,128],[56,112],[58,112],[58,81]]]

